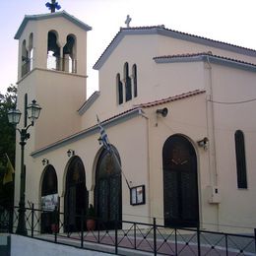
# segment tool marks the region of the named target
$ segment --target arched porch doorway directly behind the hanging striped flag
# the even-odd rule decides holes
[[[114,151],[114,150],[113,150]],[[115,220],[122,220],[122,179],[120,158],[116,151],[103,150],[96,164],[96,216],[102,221],[100,229],[113,229]],[[121,223],[118,222],[118,227]]]

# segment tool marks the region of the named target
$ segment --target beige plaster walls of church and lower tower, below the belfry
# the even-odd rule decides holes
[[[256,122],[253,118],[255,103],[252,101],[228,105],[213,103],[210,100],[240,101],[255,98],[255,73],[200,61],[157,64],[153,60],[160,55],[208,50],[228,57],[243,57],[246,61],[256,63],[252,57],[216,48],[210,49],[204,45],[195,45],[166,36],[126,35],[100,68],[100,96],[82,116],[78,115],[77,110],[85,96],[83,91],[86,85],[85,77],[42,70],[32,72],[19,83],[19,95],[29,92],[29,101],[34,96],[42,106],[41,117],[32,128],[32,136],[36,133],[35,141],[33,142],[33,139],[30,141],[26,154],[27,198],[39,204],[44,168],[41,160],[45,158],[56,169],[58,193],[61,196],[63,210],[65,173],[69,163],[66,153],[68,149],[72,149],[84,162],[90,202],[94,201],[96,161],[100,153],[97,144],[98,133],[80,137],[78,140],[70,140],[66,144],[60,143],[53,150],[45,150],[32,158],[30,153],[34,149],[94,126],[96,114],[103,121],[138,103],[205,89],[206,94],[144,108],[143,115],[125,122],[116,122],[114,126],[106,129],[109,141],[120,154],[123,172],[127,179],[133,186],[146,185],[146,205],[132,207],[129,190],[125,179],[122,178],[123,220],[147,222],[151,221],[149,217],[157,217],[159,223],[163,222],[161,151],[169,136],[180,134],[191,142],[197,155],[199,212],[202,227],[222,230],[224,224],[255,226],[256,207],[251,203],[254,202],[256,193],[254,173]],[[116,74],[120,73],[121,79],[123,78],[125,62],[129,63],[130,74],[132,65],[137,65],[138,97],[118,105]],[[19,101],[19,107],[21,102],[22,100]],[[156,109],[162,107],[167,107],[169,113],[165,118],[157,119]],[[59,113],[59,110],[62,111]],[[233,137],[236,129],[243,130],[245,135],[248,178],[246,190],[237,189],[236,185]],[[197,145],[197,141],[204,137],[209,139],[207,150]],[[18,159],[20,157],[19,151],[17,157]],[[209,202],[209,187],[213,186],[218,186],[220,190],[222,198],[220,203]],[[17,195],[16,192],[16,199]],[[226,228],[231,229],[231,227]]]

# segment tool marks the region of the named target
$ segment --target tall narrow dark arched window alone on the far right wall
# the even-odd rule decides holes
[[[237,130],[234,134],[237,187],[247,188],[246,160],[243,132]]]

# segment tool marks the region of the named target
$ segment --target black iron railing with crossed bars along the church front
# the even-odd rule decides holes
[[[18,208],[0,218],[0,227],[6,232],[15,232],[18,223]],[[49,215],[47,221],[43,215]],[[13,224],[9,224],[10,216]],[[7,219],[5,219],[7,217]],[[26,209],[28,236],[49,242],[79,248],[110,252],[119,255],[142,251],[151,255],[256,255],[256,229],[252,234],[235,234],[201,230],[200,228],[166,227],[157,224],[115,221],[108,229],[107,222],[95,219],[96,226],[87,227],[88,217],[79,215],[80,224],[65,224],[64,214]],[[50,228],[43,228],[50,224]],[[44,230],[42,232],[42,230]],[[45,230],[48,230],[47,232]],[[3,231],[3,229],[2,229]]]

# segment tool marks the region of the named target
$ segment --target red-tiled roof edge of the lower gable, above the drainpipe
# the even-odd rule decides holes
[[[227,61],[232,61],[232,62],[256,67],[256,64],[254,64],[254,63],[246,62],[246,61],[239,60],[239,59],[228,58],[228,57],[224,57],[221,55],[215,55],[211,51],[198,52],[198,53],[175,54],[175,55],[163,55],[163,56],[154,57],[153,59],[154,60],[164,60],[164,59],[167,60],[167,59],[181,59],[181,58],[193,58],[193,57],[204,57],[204,56],[215,57],[218,59],[223,59],[223,60],[227,60]]]

